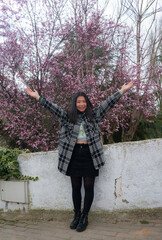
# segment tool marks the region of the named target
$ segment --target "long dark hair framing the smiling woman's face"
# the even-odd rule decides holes
[[[92,106],[92,103],[89,100],[88,96],[84,92],[77,92],[73,95],[72,104],[68,110],[69,120],[71,123],[74,123],[74,124],[77,122],[79,111],[76,108],[76,101],[77,101],[77,98],[80,96],[85,98],[86,103],[87,103],[87,108],[85,110],[85,114],[89,118],[90,122],[93,122],[93,115],[92,115],[93,106]]]

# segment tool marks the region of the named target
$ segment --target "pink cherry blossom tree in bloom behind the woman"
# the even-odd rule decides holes
[[[10,146],[32,151],[57,146],[57,120],[26,95],[26,86],[67,109],[79,90],[95,107],[125,82],[135,80],[135,87],[102,122],[109,142],[119,129],[122,141],[131,140],[140,119],[156,114],[158,85],[150,81],[146,89],[140,82],[138,90],[138,66],[130,61],[135,47],[132,31],[105,18],[97,3],[74,0],[68,16],[65,0],[1,2],[0,134]],[[154,76],[157,72],[158,68]]]

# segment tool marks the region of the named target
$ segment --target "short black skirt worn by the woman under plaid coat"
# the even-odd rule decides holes
[[[77,177],[99,175],[99,170],[94,168],[88,144],[75,144],[66,175]]]

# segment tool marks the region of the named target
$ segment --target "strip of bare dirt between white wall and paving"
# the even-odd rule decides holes
[[[3,212],[0,209],[1,221],[62,221],[73,217],[73,211],[56,211],[56,210],[30,210],[28,212],[22,211],[8,211]],[[93,221],[102,221],[109,223],[118,222],[141,222],[147,224],[149,221],[162,219],[162,208],[155,209],[136,209],[136,210],[122,210],[122,211],[91,211],[89,218]]]

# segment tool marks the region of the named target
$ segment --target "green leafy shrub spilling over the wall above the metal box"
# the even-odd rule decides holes
[[[38,180],[38,177],[29,177],[22,175],[20,171],[19,162],[17,158],[21,153],[28,153],[27,151],[21,151],[17,148],[8,149],[5,147],[0,147],[0,178],[9,179],[19,179],[19,180]]]

